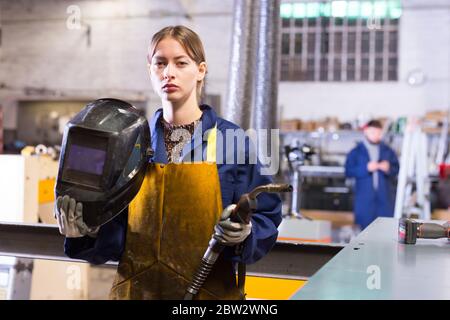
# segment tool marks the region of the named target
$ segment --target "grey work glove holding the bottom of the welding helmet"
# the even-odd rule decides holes
[[[54,216],[58,222],[59,232],[67,238],[80,238],[88,235],[95,238],[97,228],[89,228],[83,221],[83,204],[69,196],[59,196],[55,202]]]

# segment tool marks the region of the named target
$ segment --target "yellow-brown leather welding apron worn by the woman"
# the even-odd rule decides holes
[[[215,130],[206,162],[148,165],[111,299],[183,299],[223,210]],[[196,299],[243,299],[231,261],[219,257]]]

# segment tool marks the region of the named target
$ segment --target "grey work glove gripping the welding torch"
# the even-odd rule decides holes
[[[225,246],[234,246],[243,242],[252,232],[252,223],[232,222],[231,212],[236,208],[235,204],[226,207],[220,217],[220,221],[214,227],[214,239]]]

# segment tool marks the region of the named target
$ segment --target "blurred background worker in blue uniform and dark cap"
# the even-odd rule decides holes
[[[399,171],[395,151],[382,141],[381,122],[371,120],[364,128],[364,140],[350,151],[345,174],[355,178],[355,224],[365,229],[377,217],[392,217],[395,178]]]

